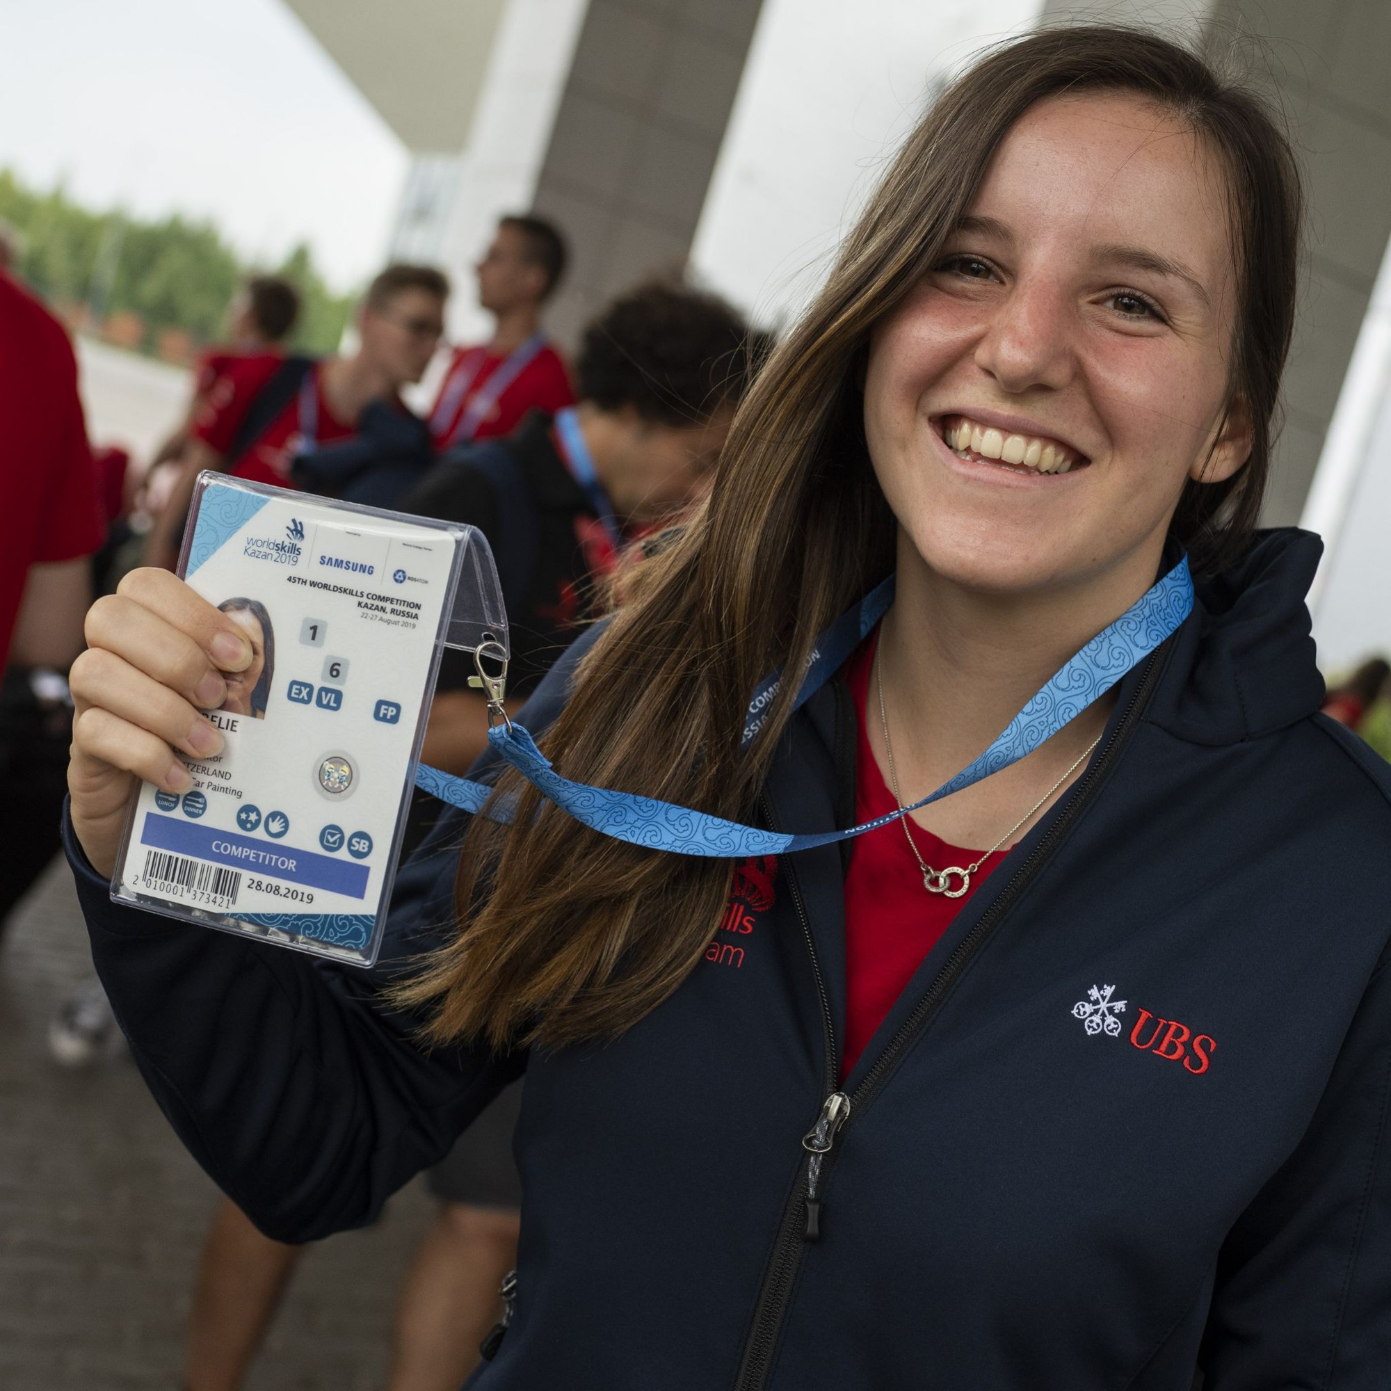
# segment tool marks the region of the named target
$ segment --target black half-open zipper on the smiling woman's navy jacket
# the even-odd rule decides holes
[[[817,978],[817,989],[821,995],[821,1004],[825,1014],[828,1039],[826,1099],[822,1103],[817,1124],[803,1136],[803,1149],[807,1150],[807,1160],[798,1171],[791,1196],[783,1209],[773,1256],[764,1276],[762,1288],[758,1291],[754,1323],[748,1334],[748,1341],[744,1345],[744,1355],[740,1359],[734,1391],[762,1391],[766,1385],[773,1348],[776,1346],[783,1316],[787,1312],[787,1302],[791,1296],[793,1280],[801,1264],[807,1244],[818,1241],[821,1237],[821,1213],[825,1202],[822,1195],[825,1192],[826,1175],[833,1161],[836,1139],[844,1132],[851,1114],[862,1111],[879,1093],[914,1036],[942,1006],[947,990],[965,970],[967,963],[999,926],[1000,921],[1029,886],[1043,862],[1053,853],[1053,849],[1063,839],[1063,835],[1081,815],[1082,808],[1092,798],[1095,789],[1100,786],[1110,765],[1118,757],[1124,741],[1134,732],[1136,716],[1149,701],[1161,669],[1160,657],[1161,654],[1167,655],[1168,645],[1168,643],[1164,643],[1146,659],[1145,670],[1141,673],[1139,683],[1135,687],[1135,694],[1131,696],[1129,704],[1111,730],[1111,737],[1106,741],[1096,762],[1092,764],[1091,769],[1072,790],[1057,821],[1053,822],[1043,839],[1029,851],[1028,858],[1014,871],[1000,896],[981,914],[975,926],[957,943],[922,999],[918,1000],[908,1017],[899,1025],[885,1050],[860,1079],[860,1085],[849,1095],[836,1086],[835,1050],[830,1046],[833,1042],[830,1004],[821,965],[817,961],[811,925],[803,908],[796,875],[789,865],[787,882],[791,886],[797,915],[801,918],[803,935],[807,939],[807,950],[811,953],[812,972]],[[766,800],[762,803],[762,807],[769,823],[772,823]]]

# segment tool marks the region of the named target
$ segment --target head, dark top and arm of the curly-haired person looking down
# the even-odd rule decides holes
[[[593,613],[629,541],[679,517],[715,473],[762,338],[716,295],[650,281],[586,327],[579,405],[448,451],[401,506],[488,540],[508,606],[508,689],[526,697]],[[445,652],[421,757],[465,772],[487,743],[473,666]]]

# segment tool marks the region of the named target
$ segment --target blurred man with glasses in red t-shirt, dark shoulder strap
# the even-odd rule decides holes
[[[218,469],[289,484],[295,456],[348,440],[369,405],[405,412],[399,391],[424,374],[444,334],[449,282],[431,266],[388,266],[367,288],[352,356],[321,362],[257,353],[231,362],[193,424],[179,480],[150,531],[146,563],[172,569],[193,480]]]

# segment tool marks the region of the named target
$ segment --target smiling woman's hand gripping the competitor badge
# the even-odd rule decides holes
[[[223,672],[252,659],[245,633],[167,570],[131,570],[88,609],[88,650],[72,664],[72,828],[92,868],[110,875],[136,778],[193,786],[177,757],[207,758],[223,736],[199,714],[227,696]]]

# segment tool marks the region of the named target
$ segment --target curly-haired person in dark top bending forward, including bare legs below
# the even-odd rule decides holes
[[[594,615],[620,549],[702,497],[751,377],[751,342],[762,339],[714,295],[634,289],[584,332],[577,408],[537,410],[506,440],[451,449],[402,501],[487,538],[508,609],[515,705]],[[421,755],[456,771],[481,751],[488,727],[462,655],[442,654]],[[415,798],[402,858],[438,811]],[[402,1288],[389,1391],[456,1391],[498,1317],[498,1285],[516,1263],[520,1092],[505,1091],[430,1173],[440,1209]],[[241,1385],[302,1249],[263,1237],[224,1200],[199,1266],[189,1391]]]

